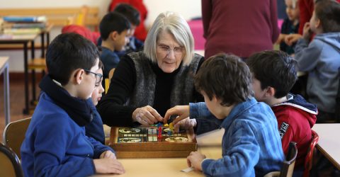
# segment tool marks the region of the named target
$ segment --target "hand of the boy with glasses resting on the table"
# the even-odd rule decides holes
[[[96,173],[123,174],[125,169],[117,159],[94,159]]]

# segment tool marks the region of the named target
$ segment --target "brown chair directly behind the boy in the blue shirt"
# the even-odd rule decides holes
[[[283,166],[281,170],[267,173],[264,177],[293,176],[296,156],[297,156],[296,142],[290,142],[288,154],[287,156],[285,156],[285,161],[283,161]]]

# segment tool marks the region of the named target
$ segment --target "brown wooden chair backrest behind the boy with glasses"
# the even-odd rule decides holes
[[[25,139],[26,130],[28,125],[30,125],[30,119],[31,118],[26,118],[10,122],[8,125],[6,125],[4,130],[4,144],[7,147],[10,147],[13,152],[18,155],[19,159],[21,159],[21,144],[23,143],[23,139]]]

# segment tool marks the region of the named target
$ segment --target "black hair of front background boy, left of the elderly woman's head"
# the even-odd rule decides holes
[[[107,40],[108,36],[113,31],[117,31],[118,34],[120,34],[124,30],[128,29],[130,29],[130,22],[127,18],[125,18],[125,16],[118,12],[109,12],[103,17],[99,24],[99,30],[103,40]]]

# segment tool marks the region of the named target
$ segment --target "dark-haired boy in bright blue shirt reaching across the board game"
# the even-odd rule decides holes
[[[195,76],[195,86],[205,103],[179,105],[166,112],[179,115],[174,121],[188,117],[196,120],[222,120],[222,159],[207,159],[191,152],[188,166],[206,176],[264,176],[279,171],[284,155],[278,123],[271,108],[252,97],[251,73],[239,57],[219,54],[203,62]],[[207,110],[210,111],[208,111]],[[197,129],[205,128],[197,122]]]

